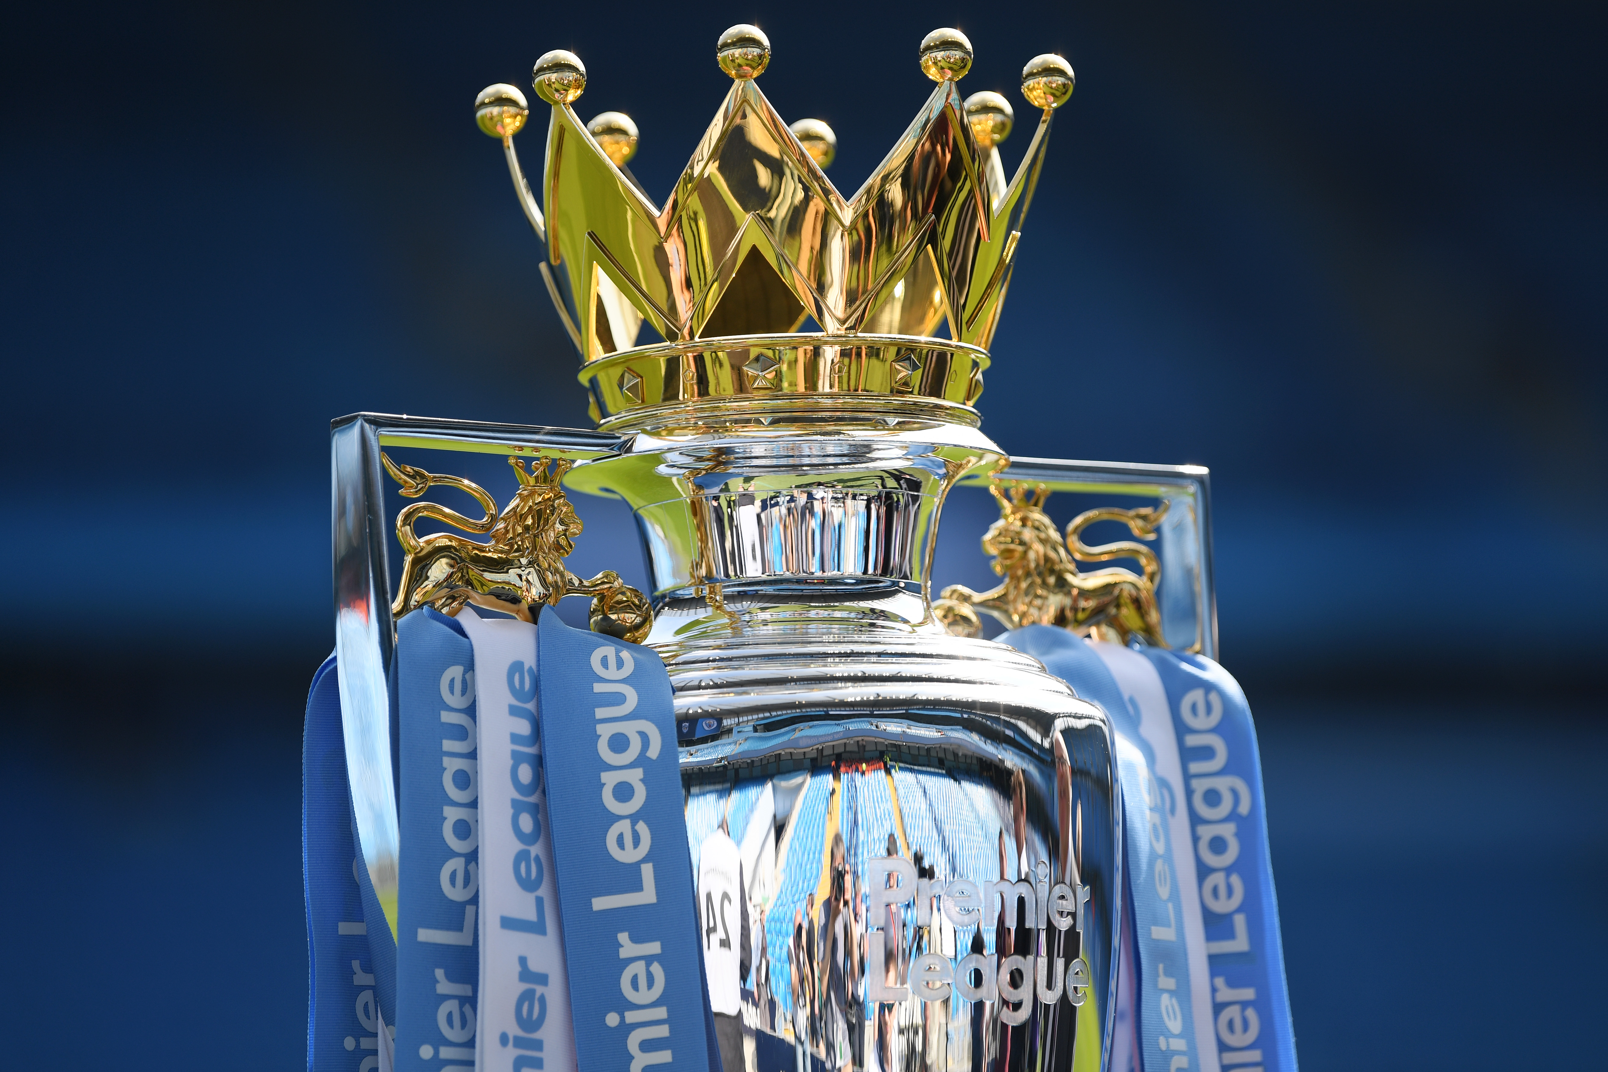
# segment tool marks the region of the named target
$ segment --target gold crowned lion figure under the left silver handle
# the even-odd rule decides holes
[[[590,580],[564,567],[564,556],[576,550],[580,518],[564,497],[560,479],[572,461],[535,458],[531,471],[524,458],[508,458],[519,479],[519,490],[498,514],[497,500],[481,485],[455,476],[425,473],[397,464],[384,453],[386,473],[402,485],[405,498],[418,498],[431,487],[466,492],[486,516],[473,521],[437,503],[413,503],[397,514],[397,540],[407,551],[402,583],[391,612],[402,617],[421,606],[457,614],[465,603],[492,608],[534,620],[531,608],[556,604],[564,596],[592,596],[592,628],[608,636],[640,643],[653,625],[653,608],[640,591],[606,569]],[[421,518],[445,521],[455,529],[489,535],[478,543],[452,532],[420,537],[413,526]]]

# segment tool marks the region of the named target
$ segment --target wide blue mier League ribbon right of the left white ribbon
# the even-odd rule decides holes
[[[648,648],[537,620],[537,701],[576,1058],[711,1067],[671,683]]]

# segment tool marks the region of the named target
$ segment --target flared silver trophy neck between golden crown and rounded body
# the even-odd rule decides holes
[[[576,466],[624,498],[653,575],[646,643],[786,632],[942,632],[929,574],[944,497],[1002,456],[976,411],[933,402],[690,405]]]

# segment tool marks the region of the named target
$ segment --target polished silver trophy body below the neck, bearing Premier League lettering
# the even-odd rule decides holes
[[[690,847],[696,860],[725,823],[762,924],[745,995],[761,1067],[793,1045],[830,1069],[1101,1067],[1122,857],[1098,707],[1028,656],[954,636],[775,635],[661,653],[680,725],[711,734],[682,749]],[[894,866],[920,884],[883,908],[873,890]],[[1000,897],[995,882],[1026,887]],[[1023,889],[1024,921],[1008,926]],[[982,908],[963,918],[978,890]],[[1076,929],[1031,923],[1052,894],[1085,902]],[[806,919],[831,935],[838,914],[855,951],[833,956],[828,939],[812,951],[807,937],[801,948]],[[968,964],[1026,998],[963,1000],[962,976],[984,982]],[[923,979],[939,982],[923,995]]]

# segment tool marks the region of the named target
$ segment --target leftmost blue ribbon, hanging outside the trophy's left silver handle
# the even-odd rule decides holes
[[[302,882],[307,897],[307,1069],[373,1072],[379,1067],[379,976],[365,913],[367,868],[357,860],[346,781],[341,693],[334,656],[307,693],[302,734]],[[368,889],[373,900],[373,889]],[[375,902],[378,910],[378,902]],[[389,945],[391,932],[379,916]]]

